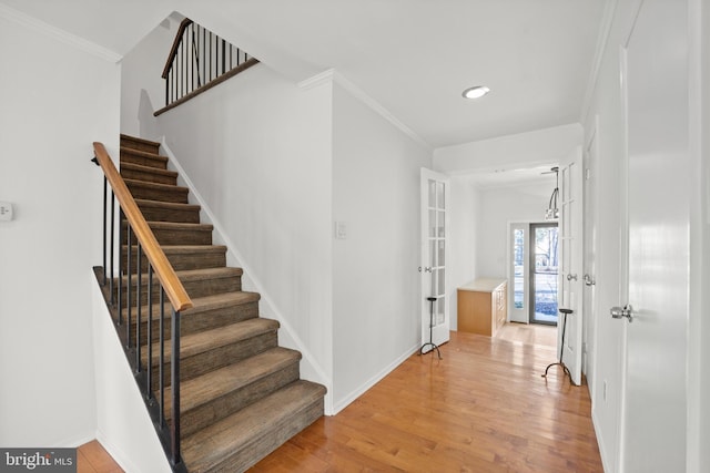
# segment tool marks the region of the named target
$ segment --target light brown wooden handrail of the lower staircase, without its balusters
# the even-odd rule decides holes
[[[192,300],[185,288],[183,287],[180,279],[178,279],[178,275],[173,269],[172,265],[168,260],[168,257],[163,253],[163,249],[160,247],[160,244],[155,239],[155,235],[143,218],[143,214],[138,208],[138,204],[133,199],[131,192],[128,186],[123,182],[123,178],[116,171],[113,165],[113,161],[109,156],[106,148],[102,143],[94,142],[93,143],[93,152],[97,156],[97,161],[99,165],[103,169],[103,174],[106,176],[106,181],[111,185],[113,189],[113,194],[115,198],[119,200],[121,205],[121,209],[125,215],[129,225],[133,229],[135,237],[141,244],[148,260],[153,266],[153,270],[155,271],[155,276],[160,280],[163,289],[165,290],[165,295],[170,302],[173,306],[173,309],[176,311],[182,311],[184,309],[191,308]]]

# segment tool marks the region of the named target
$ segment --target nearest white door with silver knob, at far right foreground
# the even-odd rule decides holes
[[[623,472],[686,471],[687,7],[641,2],[626,44],[628,306],[616,309],[627,333]]]

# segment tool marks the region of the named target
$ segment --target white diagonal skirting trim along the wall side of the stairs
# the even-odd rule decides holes
[[[161,147],[170,158],[171,165],[173,165],[175,167],[175,171],[178,171],[178,173],[180,174],[180,178],[184,182],[185,186],[190,188],[190,195],[194,197],[202,207],[201,212],[204,212],[205,219],[214,226],[214,230],[216,232],[219,238],[224,243],[224,245],[226,245],[227,258],[230,259],[230,261],[235,261],[235,264],[237,264],[244,270],[244,274],[247,275],[246,277],[254,286],[255,291],[260,294],[260,301],[267,306],[267,312],[270,313],[270,316],[276,318],[276,320],[278,320],[278,322],[281,323],[281,329],[288,333],[288,337],[291,337],[293,342],[296,345],[297,350],[301,351],[301,354],[303,356],[302,361],[307,362],[316,372],[320,379],[314,381],[325,384],[327,389],[327,393],[325,395],[325,413],[327,415],[331,415],[333,404],[333,380],[325,373],[313,353],[311,353],[311,351],[305,348],[306,346],[303,340],[301,340],[301,337],[298,337],[291,323],[288,323],[288,320],[283,316],[281,310],[277,309],[276,304],[274,304],[273,299],[268,296],[268,292],[264,290],[264,285],[256,278],[255,271],[250,268],[248,264],[245,263],[246,260],[235,249],[236,245],[229,236],[226,236],[227,233],[224,230],[224,227],[222,227],[220,222],[215,218],[205,199],[202,198],[202,195],[197,192],[192,181],[190,181],[190,178],[187,177],[187,173],[185,173],[184,168],[180,165],[178,157],[173,154],[170,147],[168,147],[165,136],[161,138]]]

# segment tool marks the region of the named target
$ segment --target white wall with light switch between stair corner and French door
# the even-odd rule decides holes
[[[342,86],[333,89],[334,404],[339,410],[420,345],[423,148]]]

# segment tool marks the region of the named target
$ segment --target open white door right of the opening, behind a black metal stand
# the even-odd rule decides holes
[[[562,361],[572,382],[581,384],[582,341],[582,164],[581,148],[575,148],[559,166],[559,284],[558,307],[572,313],[560,313],[557,321],[557,350],[562,347]],[[564,335],[564,339],[562,339]]]

